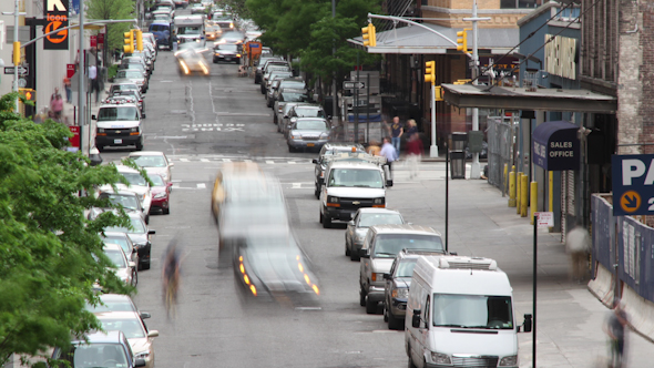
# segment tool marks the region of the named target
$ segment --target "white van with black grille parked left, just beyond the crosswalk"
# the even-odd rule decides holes
[[[95,124],[95,147],[99,151],[106,146],[133,145],[136,151],[143,150],[143,124],[141,109],[127,100],[110,99],[103,101],[98,115],[91,119]]]

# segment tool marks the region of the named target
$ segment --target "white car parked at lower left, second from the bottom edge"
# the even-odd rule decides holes
[[[145,367],[154,368],[153,338],[159,336],[159,331],[154,329],[149,331],[136,311],[100,311],[94,315],[104,330],[120,330],[125,334],[134,352],[134,359],[143,359]]]

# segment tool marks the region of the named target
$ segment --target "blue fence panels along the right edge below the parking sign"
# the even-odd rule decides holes
[[[617,265],[620,280],[654,301],[654,228],[630,216],[613,217],[613,206],[599,194],[591,205],[593,259],[612,272]]]

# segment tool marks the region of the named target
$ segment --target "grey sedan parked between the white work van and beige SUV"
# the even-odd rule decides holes
[[[359,208],[347,223],[345,231],[345,255],[350,260],[359,260],[359,251],[368,235],[368,228],[376,225],[402,225],[405,218],[399,212],[388,208]]]

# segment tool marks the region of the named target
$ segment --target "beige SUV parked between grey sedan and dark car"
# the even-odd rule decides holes
[[[377,313],[377,305],[384,301],[384,274],[402,249],[429,251],[446,254],[440,233],[431,227],[417,225],[379,225],[368,229],[359,253],[359,304],[367,314]]]

